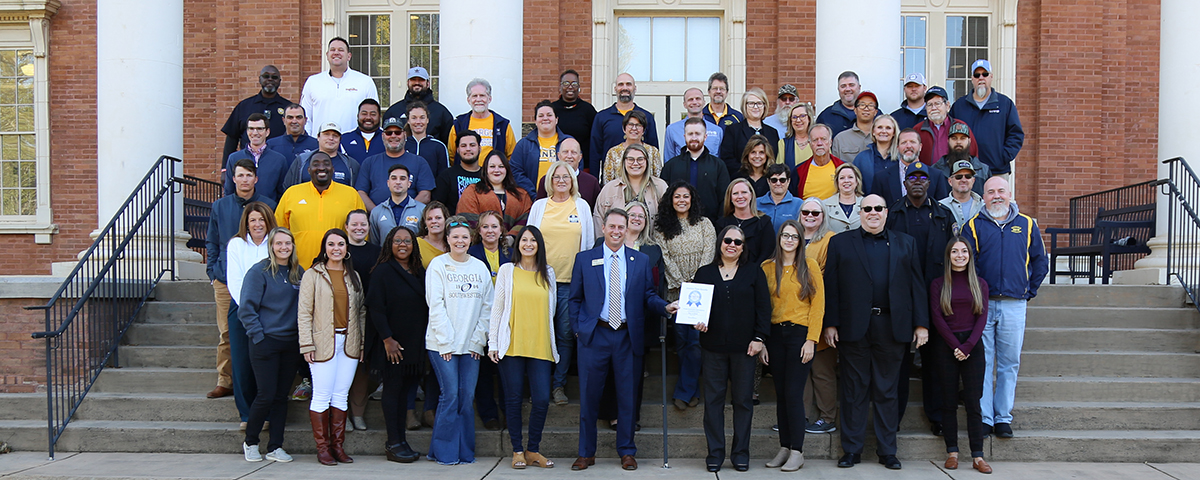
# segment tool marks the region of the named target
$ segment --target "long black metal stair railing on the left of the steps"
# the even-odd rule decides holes
[[[158,157],[46,305],[49,456],[118,346],[166,274],[175,277],[175,176],[179,158]]]

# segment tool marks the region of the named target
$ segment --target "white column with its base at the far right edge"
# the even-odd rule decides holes
[[[1194,132],[1192,118],[1200,109],[1200,62],[1193,50],[1193,23],[1200,18],[1200,2],[1194,0],[1162,0],[1158,62],[1158,161],[1183,157],[1200,166],[1200,145],[1190,142]],[[1195,169],[1196,167],[1192,167]],[[1168,178],[1168,166],[1158,163],[1158,178]],[[1169,198],[1158,197],[1157,236],[1147,245],[1152,253],[1135,264],[1135,270],[1117,272],[1118,283],[1165,283],[1166,280],[1166,205]],[[1178,210],[1176,210],[1178,212]],[[1181,224],[1181,223],[1176,223]],[[1180,254],[1178,250],[1174,254]],[[1188,259],[1196,264],[1200,259]]]

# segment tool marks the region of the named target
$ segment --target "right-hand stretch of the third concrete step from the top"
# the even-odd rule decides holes
[[[1026,350],[1194,353],[1200,330],[1140,328],[1026,328]]]

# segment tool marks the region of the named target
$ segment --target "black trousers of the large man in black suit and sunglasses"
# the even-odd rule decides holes
[[[876,454],[896,454],[896,431],[900,426],[896,390],[900,362],[908,343],[892,336],[889,316],[871,316],[866,336],[859,341],[838,342],[841,359],[841,449],[846,454],[862,454],[866,439],[868,402],[875,403]]]

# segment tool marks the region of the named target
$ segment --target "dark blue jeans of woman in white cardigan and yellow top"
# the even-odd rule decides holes
[[[506,396],[504,407],[512,451],[540,451],[541,431],[546,426],[546,412],[550,410],[550,371],[554,364],[526,356],[505,356],[500,359],[498,367]],[[532,400],[528,449],[521,446],[521,391],[524,390],[526,377],[529,377]]]

